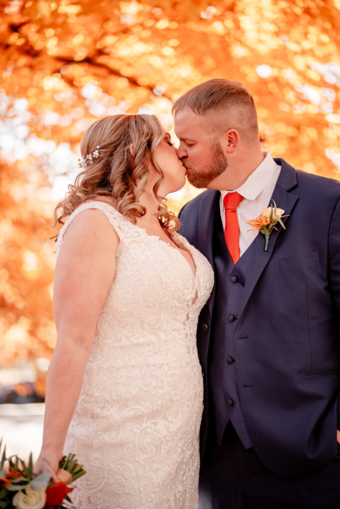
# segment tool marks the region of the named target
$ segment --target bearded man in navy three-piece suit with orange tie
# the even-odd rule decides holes
[[[197,333],[200,508],[338,509],[340,183],[262,152],[239,82],[206,81],[173,112],[188,180],[207,188],[180,233],[215,271]],[[274,202],[284,228],[265,250],[268,215],[247,221]]]

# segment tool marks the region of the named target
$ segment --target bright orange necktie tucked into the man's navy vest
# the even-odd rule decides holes
[[[225,207],[224,236],[234,265],[240,258],[240,227],[236,207],[242,200],[243,196],[236,191],[228,192],[223,200]]]

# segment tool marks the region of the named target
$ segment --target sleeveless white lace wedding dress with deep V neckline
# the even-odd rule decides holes
[[[65,453],[86,475],[71,493],[77,509],[198,509],[203,383],[196,349],[200,310],[213,270],[186,239],[194,275],[178,249],[102,202],[120,242],[116,274],[98,319]],[[93,270],[96,270],[93,267]]]

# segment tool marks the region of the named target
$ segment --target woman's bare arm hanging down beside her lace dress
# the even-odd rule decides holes
[[[46,383],[43,443],[35,465],[37,473],[54,474],[62,457],[99,313],[115,275],[118,243],[112,225],[96,209],[77,215],[64,234],[54,280],[58,340]]]

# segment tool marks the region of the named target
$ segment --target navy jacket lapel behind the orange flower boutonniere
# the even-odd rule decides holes
[[[290,215],[296,201],[298,200],[298,196],[289,192],[290,189],[297,185],[296,171],[292,166],[281,159],[275,159],[275,161],[278,164],[281,163],[282,167],[276,186],[274,188],[274,192],[272,194],[271,202],[274,201],[278,208],[283,209],[284,215]],[[289,228],[289,219],[290,217],[284,217],[282,220],[283,223],[288,223],[287,228]],[[244,287],[244,294],[239,317],[241,317],[260,275],[264,271],[273,254],[275,243],[279,235],[284,235],[284,230],[279,224],[277,224],[276,228],[277,230],[273,230],[270,235],[268,251],[265,251],[265,236],[263,234],[258,233],[254,240],[255,245],[253,257]],[[282,231],[283,233],[281,233]]]

